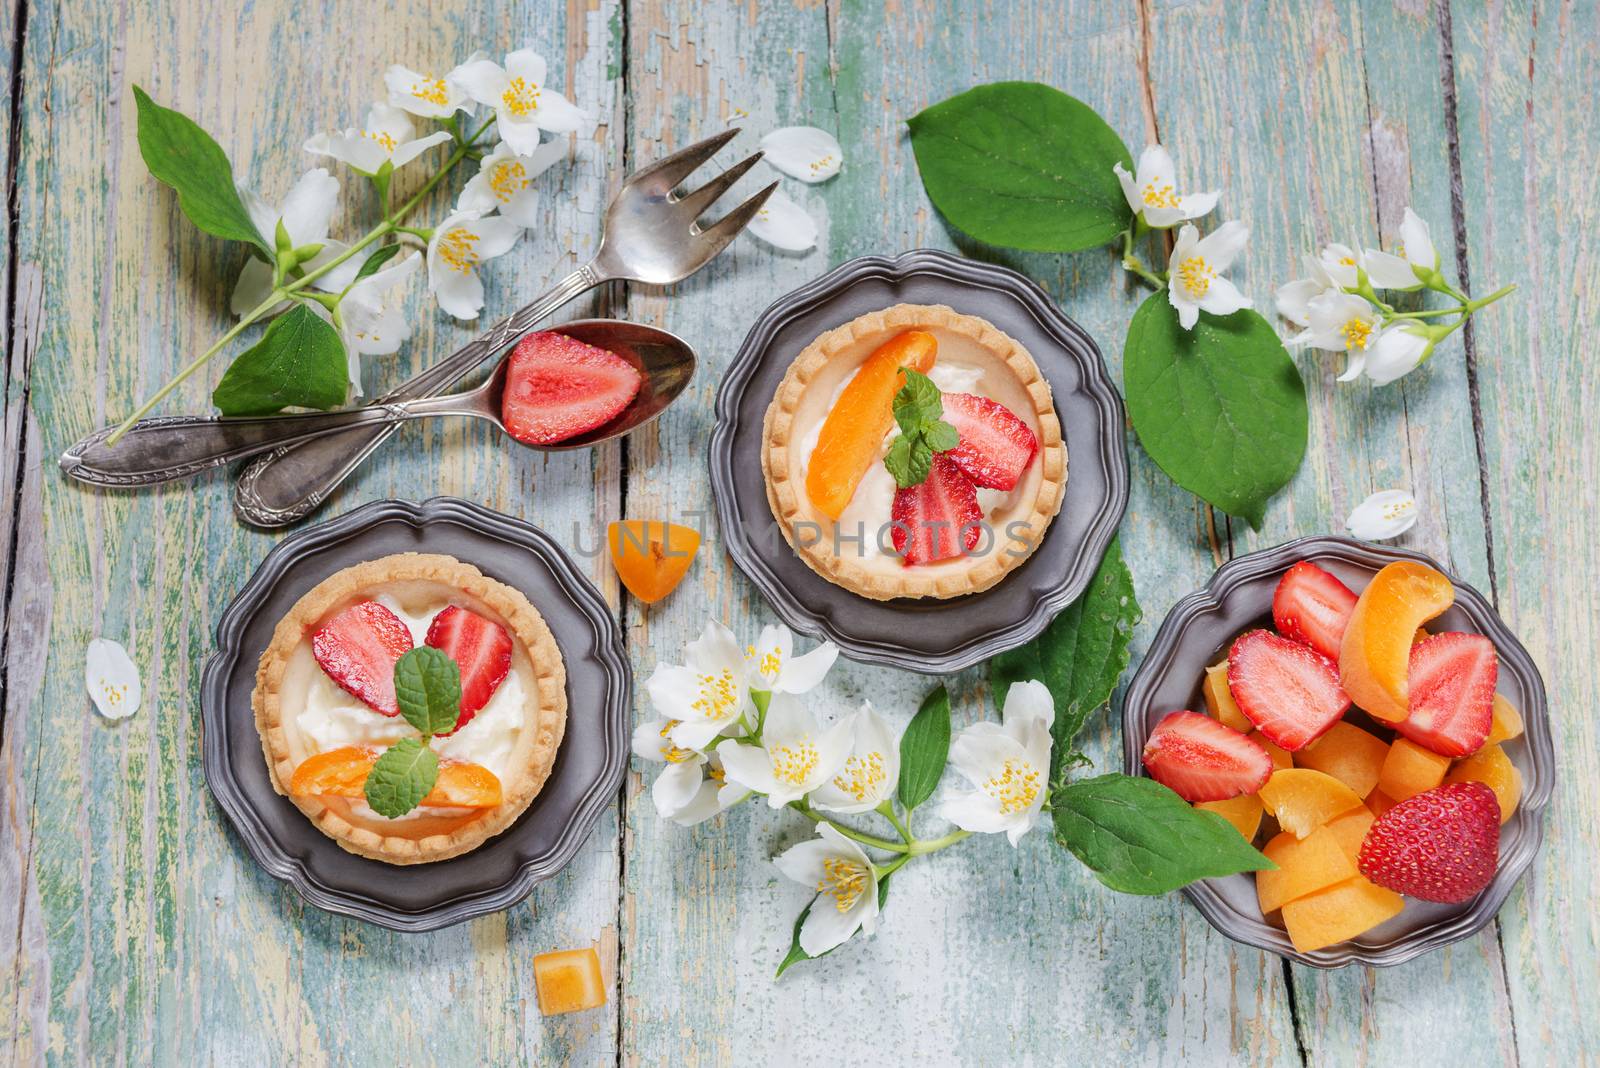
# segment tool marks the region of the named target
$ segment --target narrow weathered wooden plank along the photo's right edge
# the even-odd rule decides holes
[[[1584,3],[1451,8],[1474,293],[1518,285],[1472,334],[1493,579],[1501,614],[1544,671],[1560,766],[1544,849],[1501,931],[1522,1057],[1576,1063],[1600,1046],[1600,18]]]

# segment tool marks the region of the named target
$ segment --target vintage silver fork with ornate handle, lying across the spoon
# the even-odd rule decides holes
[[[443,393],[555,309],[605,281],[667,285],[704,267],[738,237],[778,187],[778,182],[766,185],[717,222],[701,227],[699,217],[755,166],[762,153],[734,163],[693,192],[675,190],[738,133],[734,128],[707,137],[629,176],[606,208],[594,259],[450,357],[379,397],[373,406]],[[234,489],[234,510],[254,526],[286,526],[302,520],[389,440],[402,422],[397,412],[394,419],[376,425],[366,424],[259,456],[240,475]]]

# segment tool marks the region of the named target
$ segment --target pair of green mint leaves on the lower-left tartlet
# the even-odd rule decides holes
[[[419,646],[395,660],[395,702],[400,715],[422,732],[400,739],[379,755],[362,791],[373,812],[398,819],[422,804],[438,782],[438,753],[429,745],[435,734],[456,726],[461,715],[461,668],[432,646]]]

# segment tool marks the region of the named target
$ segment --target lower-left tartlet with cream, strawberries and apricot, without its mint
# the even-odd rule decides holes
[[[395,665],[454,662],[454,723],[427,737],[437,782],[403,815],[370,804],[392,747],[418,747]],[[453,556],[400,553],[323,579],[278,622],[251,697],[272,787],[344,849],[426,863],[499,835],[538,796],[566,727],[566,671],[538,609]]]

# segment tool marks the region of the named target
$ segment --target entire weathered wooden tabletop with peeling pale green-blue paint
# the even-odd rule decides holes
[[[1600,1050],[1600,18],[1592,3],[1448,0],[8,0],[5,553],[0,750],[0,1057],[11,1063],[1574,1063]],[[720,371],[757,309],[866,253],[955,248],[1037,278],[1120,382],[1138,293],[1106,251],[1021,256],[947,229],[904,120],[979,82],[1032,78],[1099,110],[1138,152],[1160,137],[1187,187],[1250,224],[1234,275],[1259,307],[1326,240],[1376,243],[1406,203],[1474,293],[1515,281],[1430,366],[1336,384],[1301,357],[1310,449],[1253,532],[1205,510],[1130,433],[1122,544],[1146,619],[1218,560],[1339,529],[1373,489],[1411,488],[1402,544],[1490,593],[1539,662],[1560,759],[1546,843],[1499,919],[1411,964],[1320,972],[1235,946],[1179,897],[1102,889],[1045,833],[974,839],[915,865],[875,938],[774,983],[805,892],[770,857],[805,836],[765,806],[664,825],[637,766],[557,879],[507,913],[427,935],[325,915],[256,868],[200,771],[197,686],[211,628],[278,536],[234,520],[222,476],[158,492],[66,481],[56,456],[122,417],[227,323],[242,264],[184,221],[139,160],[130,85],[213,131],[277,200],[310,133],[350,125],[390,62],[448,69],[523,40],[598,112],[542,179],[541,225],[490,270],[488,313],[587,259],[619,176],[730,122],[837,131],[834,181],[787,190],[816,251],[744,238],[670,291],[616,288],[563,315],[654,323],[698,345],[690,395],[592,452],[507,448],[482,425],[413,427],[325,516],[458,494],[595,545],[618,516],[709,510]],[[354,182],[341,173],[346,187]],[[365,197],[365,193],[363,193]],[[357,200],[357,203],[363,203]],[[440,201],[443,205],[443,200]],[[437,217],[437,214],[435,214]],[[416,283],[395,382],[470,336]],[[1464,344],[1462,344],[1464,342]],[[206,411],[222,363],[163,411]],[[714,526],[714,524],[712,524]],[[618,595],[640,678],[707,616],[771,619],[712,539],[653,609]],[[83,692],[90,638],[123,641],[144,707]],[[952,679],[984,715],[981,671]],[[928,679],[843,665],[822,697],[907,716]],[[1101,713],[1091,751],[1117,764]],[[544,1020],[530,958],[598,942],[606,1009]],[[1587,1006],[1587,1009],[1584,1007]]]

